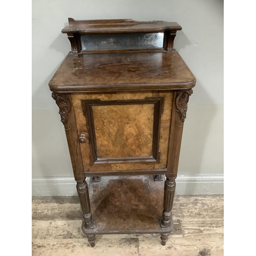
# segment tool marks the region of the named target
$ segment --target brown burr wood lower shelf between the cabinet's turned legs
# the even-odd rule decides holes
[[[93,229],[86,234],[168,233],[172,225],[162,228],[164,181],[153,176],[101,177],[89,182]]]

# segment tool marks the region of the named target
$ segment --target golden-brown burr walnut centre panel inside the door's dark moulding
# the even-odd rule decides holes
[[[152,156],[154,104],[93,106],[98,157]]]

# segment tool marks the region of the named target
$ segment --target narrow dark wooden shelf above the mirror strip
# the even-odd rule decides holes
[[[163,32],[181,30],[176,22],[138,22],[133,19],[95,19],[75,20],[69,18],[69,25],[62,33],[131,33],[131,32]]]

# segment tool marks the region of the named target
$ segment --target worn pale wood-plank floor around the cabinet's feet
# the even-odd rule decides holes
[[[175,196],[177,227],[165,246],[159,234],[97,235],[90,247],[81,231],[78,197],[32,200],[32,255],[223,255],[223,196]]]

